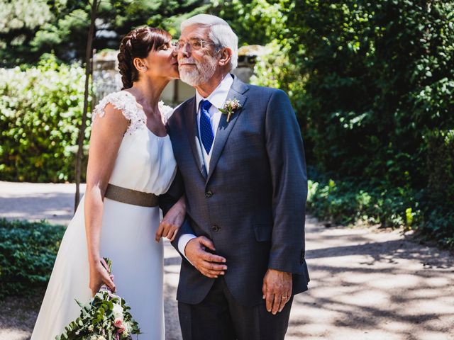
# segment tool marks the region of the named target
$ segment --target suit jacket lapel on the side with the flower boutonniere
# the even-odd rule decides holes
[[[240,113],[243,111],[244,103],[247,99],[243,94],[248,91],[248,86],[246,86],[243,81],[240,81],[238,77],[233,76],[233,84],[230,91],[228,91],[227,101],[233,98],[238,99],[241,107],[233,112],[229,122],[227,123],[227,115],[221,115],[221,120],[219,121],[218,131],[216,132],[216,138],[214,139],[213,153],[211,154],[211,161],[209,166],[209,173],[206,181],[208,182],[211,178],[211,175],[218,164],[219,157],[221,157],[222,150],[226,145],[228,135],[230,135],[231,130],[235,126],[236,121]]]

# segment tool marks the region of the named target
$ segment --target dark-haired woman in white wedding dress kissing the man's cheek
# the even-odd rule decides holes
[[[177,173],[165,119],[172,109],[159,101],[178,66],[171,36],[138,28],[123,38],[118,54],[123,90],[94,109],[87,189],[57,254],[31,340],[53,340],[79,316],[74,301],[87,302],[101,285],[118,290],[143,334],[165,339],[163,247],[182,224],[184,197],[160,224],[157,196]],[[113,263],[109,277],[103,256]]]

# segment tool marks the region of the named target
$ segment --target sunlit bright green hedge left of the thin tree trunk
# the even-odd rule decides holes
[[[52,55],[23,71],[0,69],[0,180],[74,179],[84,78]]]

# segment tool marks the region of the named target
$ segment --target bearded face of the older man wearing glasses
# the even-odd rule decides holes
[[[209,39],[209,28],[200,25],[184,28],[179,37],[177,59],[182,81],[191,86],[209,81],[218,67],[214,44]]]

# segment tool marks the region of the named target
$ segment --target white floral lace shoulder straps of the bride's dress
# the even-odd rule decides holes
[[[105,108],[107,104],[111,103],[114,108],[121,110],[127,120],[129,120],[129,127],[125,135],[132,135],[135,130],[146,127],[146,117],[143,110],[138,106],[135,97],[126,91],[118,91],[105,96],[98,105],[94,108],[92,113],[92,124],[97,117],[103,117],[106,114]],[[173,108],[160,101],[158,105],[162,117],[162,123],[167,123],[173,112]]]

